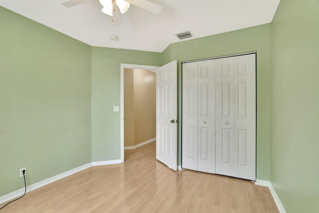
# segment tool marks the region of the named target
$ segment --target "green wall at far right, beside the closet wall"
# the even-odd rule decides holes
[[[319,1],[281,0],[272,23],[271,182],[288,213],[319,212]]]

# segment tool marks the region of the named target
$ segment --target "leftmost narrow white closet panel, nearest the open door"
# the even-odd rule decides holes
[[[182,168],[197,171],[198,62],[182,64]]]

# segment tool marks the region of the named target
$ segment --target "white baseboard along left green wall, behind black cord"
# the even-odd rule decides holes
[[[92,163],[88,163],[88,164],[79,166],[77,168],[71,169],[69,171],[66,171],[64,173],[58,174],[56,176],[47,178],[47,179],[45,179],[43,181],[39,181],[39,182],[37,182],[35,184],[26,186],[26,192],[27,193],[31,192],[31,191],[36,190],[36,189],[38,189],[40,187],[43,187],[43,186],[45,186],[47,184],[50,184],[50,183],[52,183],[54,181],[60,180],[60,179],[65,178],[67,176],[73,175],[74,173],[77,173],[77,172],[80,172],[80,171],[85,170],[87,168],[90,168],[91,166],[92,166]],[[0,204],[2,204],[4,202],[7,202],[7,201],[10,201],[10,200],[12,200],[14,198],[17,198],[17,197],[19,197],[19,196],[21,196],[23,194],[24,194],[24,188],[16,190],[16,191],[11,192],[11,193],[6,194],[6,195],[3,195],[3,196],[0,197]]]

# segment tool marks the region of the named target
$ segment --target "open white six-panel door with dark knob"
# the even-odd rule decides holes
[[[177,61],[156,70],[156,159],[177,170]]]

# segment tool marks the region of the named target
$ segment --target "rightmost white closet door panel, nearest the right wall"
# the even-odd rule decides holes
[[[234,57],[236,173],[256,180],[256,55]]]

